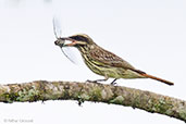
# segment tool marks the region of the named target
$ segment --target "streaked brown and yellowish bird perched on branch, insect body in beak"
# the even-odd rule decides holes
[[[69,41],[69,44],[65,44]],[[88,35],[76,34],[69,37],[58,38],[54,44],[62,47],[75,47],[80,52],[85,64],[96,74],[103,76],[103,79],[88,80],[88,82],[106,82],[109,78],[114,78],[111,83],[115,84],[116,79],[134,79],[134,78],[151,78],[164,83],[166,85],[174,85],[174,83],[166,79],[159,78],[147,74],[134,67],[124,59],[98,46]]]

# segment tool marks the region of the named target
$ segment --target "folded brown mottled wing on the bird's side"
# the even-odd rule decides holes
[[[122,58],[115,55],[114,53],[104,50],[97,46],[98,48],[90,50],[90,55],[95,61],[103,63],[106,65],[124,67],[135,70],[128,62],[124,61]]]

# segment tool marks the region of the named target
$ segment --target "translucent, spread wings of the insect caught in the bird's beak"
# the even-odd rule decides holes
[[[77,64],[77,59],[73,54],[72,48],[64,47],[63,45],[67,44],[66,40],[63,40],[62,38],[62,26],[60,23],[60,20],[57,17],[53,17],[53,33],[57,38],[57,41],[63,42],[62,46],[60,46],[61,51],[63,54],[74,64]]]

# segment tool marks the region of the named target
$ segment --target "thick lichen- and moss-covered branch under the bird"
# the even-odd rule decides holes
[[[138,108],[186,122],[186,101],[134,88],[76,82],[36,80],[0,85],[0,102],[96,101]]]

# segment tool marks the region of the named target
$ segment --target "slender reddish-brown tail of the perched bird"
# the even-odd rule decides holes
[[[162,83],[164,83],[164,84],[166,84],[166,85],[174,85],[174,83],[171,83],[171,82],[169,82],[169,80],[165,80],[165,79],[162,79],[162,78],[159,78],[159,77],[149,75],[149,74],[147,74],[147,73],[145,73],[145,72],[142,72],[142,71],[134,70],[134,69],[131,69],[131,70],[134,71],[134,72],[136,72],[136,73],[138,73],[138,74],[140,74],[140,75],[144,76],[144,77],[152,78],[152,79],[162,82]]]

